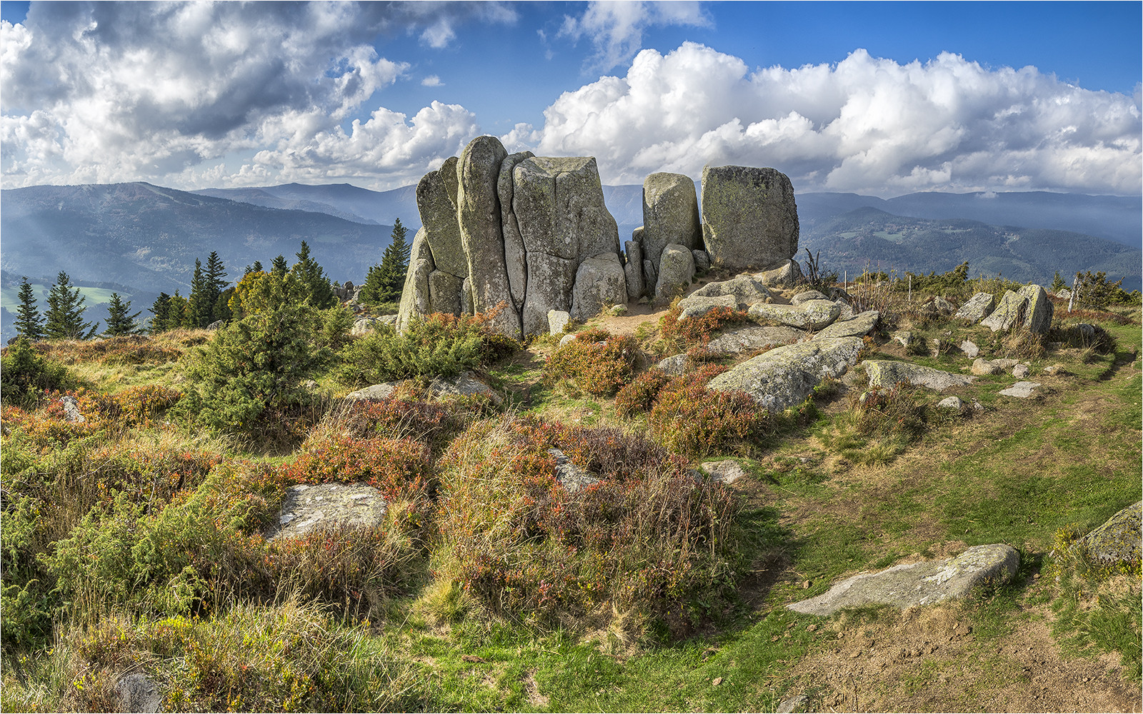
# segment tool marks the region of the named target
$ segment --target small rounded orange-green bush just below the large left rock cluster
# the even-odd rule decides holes
[[[547,358],[544,382],[554,386],[567,380],[588,394],[610,396],[631,382],[640,354],[634,337],[584,330]]]

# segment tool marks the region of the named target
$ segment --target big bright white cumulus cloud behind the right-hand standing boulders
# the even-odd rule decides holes
[[[959,55],[751,71],[686,42],[561,95],[512,149],[594,155],[607,183],[706,163],[772,166],[799,190],[1143,190],[1138,99]]]

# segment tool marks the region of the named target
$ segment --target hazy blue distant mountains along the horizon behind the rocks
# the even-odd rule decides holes
[[[629,239],[642,223],[642,186],[604,186],[604,199],[621,242]],[[1141,287],[1138,198],[928,192],[894,199],[800,193],[796,200],[801,246],[820,250],[828,268],[854,274],[869,262],[941,272],[968,260],[974,275],[1000,272],[1046,281],[1056,270],[1065,275],[1103,270],[1112,280],[1125,278],[1127,289]],[[153,302],[147,296],[185,294],[194,259],[205,262],[211,250],[235,280],[255,260],[269,265],[280,254],[293,263],[303,240],[330,278],[360,282],[381,260],[395,218],[411,240],[421,225],[416,186],[377,192],[349,184],[285,184],[185,192],[129,183],[5,190],[2,288],[10,298],[21,275],[46,286],[63,270],[91,291],[88,305],[96,310],[87,319],[102,319],[101,300],[110,291],[101,283],[121,287],[121,296],[136,296],[133,310],[145,310]],[[5,310],[0,336],[10,336],[9,324]]]

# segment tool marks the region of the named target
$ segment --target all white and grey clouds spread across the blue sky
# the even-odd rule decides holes
[[[24,23],[0,23],[3,187],[414,183],[501,118],[441,102],[386,109],[395,85],[446,82],[416,57],[381,56],[377,38],[437,51],[465,23],[518,19],[466,2],[37,3]],[[693,42],[638,51],[652,25],[706,22],[693,3],[592,3],[565,18],[560,32],[590,43],[589,62],[625,75],[537,97],[543,125],[502,141],[594,155],[612,184],[736,163],[775,167],[799,191],[1143,192],[1140,93],[953,54],[898,64],[857,49],[837,64],[752,69]]]

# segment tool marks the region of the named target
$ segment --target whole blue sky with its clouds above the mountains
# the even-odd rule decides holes
[[[2,2],[0,175],[383,190],[493,134],[605,183],[1137,195],[1141,8]]]

